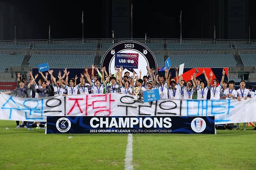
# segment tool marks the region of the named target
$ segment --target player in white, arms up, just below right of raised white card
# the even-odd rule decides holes
[[[182,80],[183,80],[182,75],[179,78],[179,85],[180,85],[181,89],[183,87],[183,90],[184,90],[184,98],[183,99],[192,99],[193,92],[196,89],[196,84],[195,84],[195,82],[193,82],[193,79],[194,79],[193,76],[191,76],[190,79],[191,80],[188,80],[187,85],[185,87],[182,84]],[[193,88],[192,88],[192,84],[193,84]]]

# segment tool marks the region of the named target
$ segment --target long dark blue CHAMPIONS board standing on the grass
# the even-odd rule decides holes
[[[215,134],[214,116],[47,116],[47,134]]]

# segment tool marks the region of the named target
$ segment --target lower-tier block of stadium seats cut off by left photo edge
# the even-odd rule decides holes
[[[0,71],[5,71],[9,66],[21,66],[25,54],[0,54]]]

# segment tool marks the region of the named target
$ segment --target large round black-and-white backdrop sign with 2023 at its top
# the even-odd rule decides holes
[[[115,66],[120,68],[119,65],[122,64],[125,65],[123,75],[126,71],[130,72],[130,76],[133,71],[139,75],[140,70],[142,76],[148,75],[147,66],[154,68],[157,74],[156,57],[146,45],[140,42],[128,40],[114,44],[104,54],[101,68],[105,66],[107,73],[115,73]]]

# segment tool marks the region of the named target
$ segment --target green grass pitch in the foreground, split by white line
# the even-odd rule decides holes
[[[15,121],[0,120],[0,169],[124,169],[127,134],[46,135],[15,127]],[[256,131],[246,129],[133,134],[133,168],[255,169]]]

